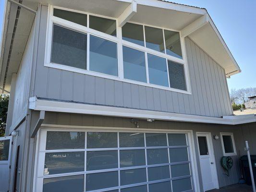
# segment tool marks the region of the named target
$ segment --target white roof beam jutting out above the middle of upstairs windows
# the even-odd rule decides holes
[[[134,14],[137,12],[137,2],[135,0],[122,12],[122,14],[117,19],[118,26],[122,27],[129,21]]]

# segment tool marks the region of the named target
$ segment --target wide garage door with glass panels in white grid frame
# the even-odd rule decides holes
[[[37,192],[193,191],[188,134],[41,130]]]

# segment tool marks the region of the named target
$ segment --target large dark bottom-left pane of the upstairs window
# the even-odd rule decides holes
[[[51,62],[86,69],[86,34],[53,25]]]

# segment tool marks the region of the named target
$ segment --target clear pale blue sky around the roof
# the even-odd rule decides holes
[[[171,1],[207,9],[242,70],[228,79],[229,89],[256,87],[256,0]],[[4,2],[0,0],[0,31]]]

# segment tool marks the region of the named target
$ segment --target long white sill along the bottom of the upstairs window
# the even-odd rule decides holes
[[[117,76],[112,76],[112,75],[103,74],[103,73],[99,73],[99,72],[87,71],[87,70],[69,67],[69,66],[65,66],[65,65],[61,65],[61,64],[56,64],[56,63],[45,63],[44,66],[55,68],[55,69],[60,69],[60,70],[65,70],[65,71],[70,71],[70,72],[77,72],[77,73],[92,75],[92,76],[96,76],[96,77],[102,77],[102,78],[120,81],[120,82],[124,82],[124,83],[137,84],[137,85],[142,85],[142,86],[147,86],[147,87],[152,87],[152,88],[157,88],[157,89],[191,95],[191,92],[189,92],[189,91],[183,91],[183,90],[174,89],[174,88],[165,87],[165,86],[156,85],[156,84],[147,84],[147,83],[138,82],[138,81],[129,80],[129,79],[122,79]]]

